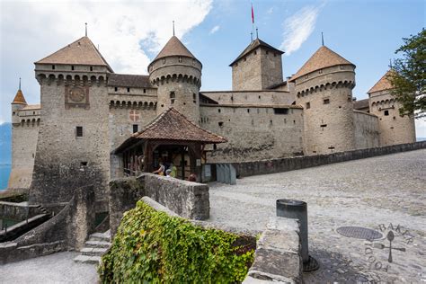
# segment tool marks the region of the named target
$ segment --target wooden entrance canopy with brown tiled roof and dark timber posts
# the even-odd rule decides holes
[[[154,151],[158,146],[187,147],[191,173],[196,173],[200,177],[199,160],[204,152],[204,146],[224,142],[227,142],[226,138],[201,129],[179,111],[169,108],[148,123],[144,129],[132,134],[111,154],[121,155],[123,159],[131,161],[136,161],[138,155],[143,155],[144,172],[152,172]]]

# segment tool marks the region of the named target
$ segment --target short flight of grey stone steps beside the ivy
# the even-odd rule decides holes
[[[108,252],[111,246],[110,230],[105,233],[94,233],[89,236],[89,240],[84,243],[80,250],[80,255],[76,256],[74,262],[99,264],[104,253]]]

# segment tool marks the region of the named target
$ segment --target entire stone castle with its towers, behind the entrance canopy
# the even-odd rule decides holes
[[[255,39],[230,64],[232,91],[202,92],[202,64],[175,36],[149,75],[116,74],[88,37],[75,40],[35,62],[40,105],[28,105],[21,89],[12,102],[9,188],[30,188],[31,202],[58,204],[93,183],[105,206],[108,182],[124,174],[111,152],[172,107],[227,139],[203,149],[203,164],[415,141],[414,120],[399,115],[388,74],[367,100],[354,101],[355,65],[347,59],[321,46],[283,80],[282,54]],[[155,155],[157,163],[162,154]]]

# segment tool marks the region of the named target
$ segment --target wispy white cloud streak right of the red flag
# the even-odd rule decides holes
[[[280,49],[283,49],[287,56],[299,49],[314,31],[316,18],[323,6],[324,4],[303,7],[283,23],[283,41]]]

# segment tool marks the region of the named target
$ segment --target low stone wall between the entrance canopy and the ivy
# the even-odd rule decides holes
[[[182,217],[209,218],[209,185],[167,178],[152,173],[110,182],[110,228],[115,235],[125,211],[147,196]]]

